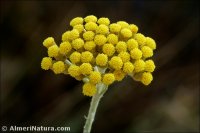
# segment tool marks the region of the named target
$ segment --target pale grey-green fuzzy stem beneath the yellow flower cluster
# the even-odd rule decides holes
[[[90,103],[90,109],[86,118],[83,133],[90,133],[99,101],[103,97],[103,94],[106,92],[107,86],[101,83],[97,85],[97,90],[97,93],[92,97],[92,101]]]

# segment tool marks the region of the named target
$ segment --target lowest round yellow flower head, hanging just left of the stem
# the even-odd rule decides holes
[[[92,97],[96,94],[96,92],[97,92],[97,88],[94,84],[85,83],[83,85],[83,92],[82,92],[83,95]]]

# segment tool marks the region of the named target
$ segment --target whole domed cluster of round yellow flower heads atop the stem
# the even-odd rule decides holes
[[[99,83],[110,85],[126,75],[144,85],[151,83],[155,64],[149,58],[156,43],[138,33],[135,24],[110,23],[108,18],[89,15],[72,19],[70,26],[72,30],[62,34],[60,45],[53,37],[44,40],[48,57],[42,59],[42,69],[83,80],[86,96],[95,95]]]

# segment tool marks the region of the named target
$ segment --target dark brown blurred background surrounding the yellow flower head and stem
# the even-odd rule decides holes
[[[82,132],[90,99],[82,82],[43,71],[42,42],[93,14],[125,20],[154,38],[154,80],[110,86],[92,132],[199,132],[199,6],[195,1],[1,1],[2,125],[70,126]]]

